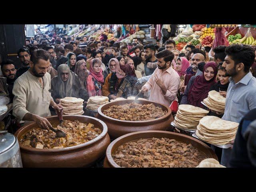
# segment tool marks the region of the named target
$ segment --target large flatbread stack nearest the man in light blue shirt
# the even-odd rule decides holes
[[[239,123],[206,116],[199,121],[196,136],[210,144],[225,145],[236,137]]]

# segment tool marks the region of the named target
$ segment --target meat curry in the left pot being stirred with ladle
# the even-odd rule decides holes
[[[64,120],[61,126],[57,126],[57,129],[63,131],[66,137],[57,138],[51,130],[34,128],[26,132],[20,142],[33,148],[56,149],[88,142],[102,133],[100,128],[94,127],[94,124],[81,123],[78,120]]]

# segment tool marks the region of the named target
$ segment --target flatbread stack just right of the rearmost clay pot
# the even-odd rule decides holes
[[[174,126],[177,128],[196,130],[199,120],[206,116],[209,111],[192,105],[179,105],[174,118]]]

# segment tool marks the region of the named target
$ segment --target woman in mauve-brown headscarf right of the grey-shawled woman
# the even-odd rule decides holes
[[[90,71],[86,67],[85,60],[79,60],[76,62],[74,73],[78,75],[82,88],[85,88],[84,85],[89,72]]]

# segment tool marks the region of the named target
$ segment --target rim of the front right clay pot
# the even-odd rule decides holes
[[[128,134],[125,134],[123,136],[120,136],[118,138],[116,138],[114,141],[112,141],[107,150],[106,150],[106,158],[107,158],[107,161],[109,162],[109,164],[112,166],[114,165],[114,167],[116,168],[122,168],[120,167],[115,161],[114,159],[112,158],[112,154],[111,154],[111,149],[113,148],[113,146],[120,140],[122,140],[123,138],[125,137],[128,137],[128,136],[131,136],[131,135],[136,135],[136,134],[140,134],[140,133],[166,133],[166,134],[171,134],[171,135],[179,135],[179,136],[183,136],[185,138],[188,138],[190,140],[195,140],[196,142],[202,144],[204,147],[208,148],[208,149],[211,149],[208,145],[206,145],[204,142],[196,139],[196,138],[193,138],[191,136],[188,136],[188,135],[184,135],[184,134],[180,134],[180,133],[174,133],[174,132],[170,132],[170,131],[154,131],[154,130],[151,130],[151,131],[137,131],[137,132],[132,132],[132,133],[128,133]],[[131,140],[132,141],[132,140]],[[216,154],[213,154],[213,156],[216,156]],[[217,157],[217,156],[216,156]],[[214,158],[214,157],[212,157]]]

